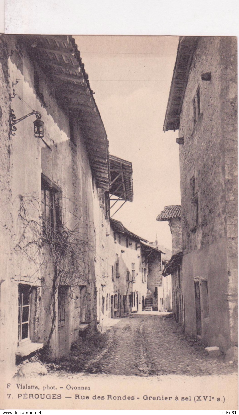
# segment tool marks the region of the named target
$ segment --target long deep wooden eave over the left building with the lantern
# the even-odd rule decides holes
[[[60,107],[79,123],[97,186],[109,191],[109,142],[75,39],[62,35],[19,39],[50,80]]]

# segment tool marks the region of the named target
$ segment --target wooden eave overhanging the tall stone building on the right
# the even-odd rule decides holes
[[[164,132],[179,129],[181,106],[188,81],[188,73],[193,52],[197,46],[197,42],[197,36],[183,36],[179,38],[169,100],[164,118]]]

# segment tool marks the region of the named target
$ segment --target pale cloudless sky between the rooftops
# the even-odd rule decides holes
[[[84,35],[75,40],[109,152],[133,164],[133,202],[126,202],[114,219],[150,242],[157,236],[160,246],[171,249],[168,222],[156,217],[164,206],[181,204],[178,132],[163,132],[178,37]]]

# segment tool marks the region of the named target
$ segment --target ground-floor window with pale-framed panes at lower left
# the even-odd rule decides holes
[[[18,286],[18,341],[33,339],[33,324],[36,304],[36,287]],[[32,320],[32,321],[31,321]],[[32,331],[32,333],[31,333]],[[34,340],[34,339],[33,339]]]

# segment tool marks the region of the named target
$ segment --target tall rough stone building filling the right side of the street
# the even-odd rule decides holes
[[[164,131],[179,130],[186,332],[237,345],[237,39],[180,37]]]

